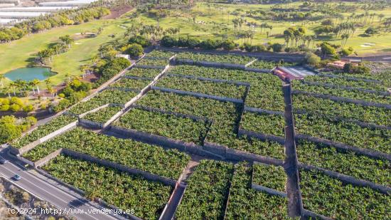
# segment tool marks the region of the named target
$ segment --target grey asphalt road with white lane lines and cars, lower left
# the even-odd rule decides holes
[[[6,154],[5,149],[0,148],[0,156],[8,159],[9,162],[6,164],[0,164],[0,175],[6,179],[11,179],[14,174],[18,174],[22,177],[19,181],[14,181],[11,179],[11,182],[14,182],[18,187],[25,189],[27,192],[30,192],[33,195],[36,195],[40,199],[48,201],[50,204],[53,204],[58,209],[62,210],[71,210],[73,212],[79,212],[68,214],[74,216],[80,220],[118,220],[124,219],[122,216],[114,216],[109,214],[93,213],[92,211],[100,211],[101,206],[97,204],[92,204],[91,201],[84,199],[80,194],[71,192],[70,189],[64,187],[56,186],[55,183],[48,181],[45,177],[39,174],[32,174],[28,170],[23,169],[23,166],[13,162],[8,154]]]

